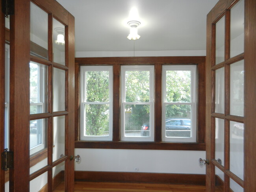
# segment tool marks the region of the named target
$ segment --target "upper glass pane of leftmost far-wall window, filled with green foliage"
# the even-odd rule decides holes
[[[109,102],[109,71],[85,72],[86,102]]]

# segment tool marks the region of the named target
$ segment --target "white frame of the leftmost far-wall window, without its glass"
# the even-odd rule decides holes
[[[109,72],[109,102],[86,102],[86,78],[88,71]],[[80,67],[80,140],[111,141],[113,137],[113,66],[81,66]],[[109,135],[85,135],[85,105],[109,105]]]

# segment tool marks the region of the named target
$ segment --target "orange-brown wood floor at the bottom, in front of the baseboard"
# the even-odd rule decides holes
[[[61,183],[54,192],[63,192]],[[205,192],[200,185],[75,182],[75,192]]]

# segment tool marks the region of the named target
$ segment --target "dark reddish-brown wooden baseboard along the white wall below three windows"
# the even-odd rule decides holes
[[[205,185],[205,174],[75,171],[75,181]]]

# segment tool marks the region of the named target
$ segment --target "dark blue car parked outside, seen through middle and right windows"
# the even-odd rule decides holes
[[[191,120],[188,118],[167,118],[165,120],[165,130],[190,130]],[[149,137],[150,124],[141,126],[141,136]]]

